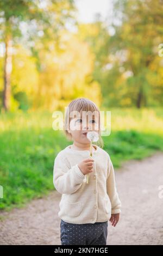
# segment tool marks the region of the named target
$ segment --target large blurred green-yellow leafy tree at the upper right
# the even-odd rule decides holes
[[[158,97],[163,93],[163,86],[155,79],[160,77],[161,68],[158,58],[158,46],[163,41],[161,3],[159,0],[115,1],[114,16],[120,17],[120,23],[112,24],[115,35],[110,42],[110,52],[119,54],[119,68],[131,74],[123,86],[127,87],[126,92],[137,108],[150,105],[151,94]],[[157,93],[154,81],[158,83]]]

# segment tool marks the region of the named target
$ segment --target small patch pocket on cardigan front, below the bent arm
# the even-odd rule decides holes
[[[65,211],[66,214],[70,217],[77,217],[79,216],[80,212],[82,212],[82,203],[76,202],[76,203],[65,203]]]

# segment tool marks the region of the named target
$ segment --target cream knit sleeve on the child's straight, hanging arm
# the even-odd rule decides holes
[[[108,160],[108,176],[106,180],[107,193],[111,202],[111,214],[118,214],[121,212],[121,201],[117,193],[115,172],[110,156]]]

